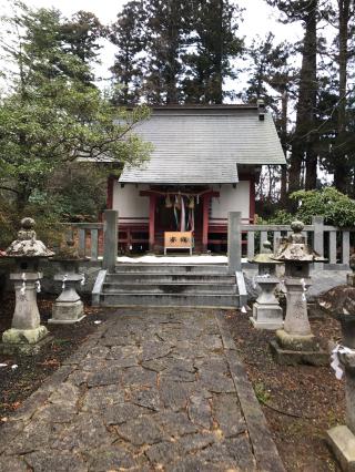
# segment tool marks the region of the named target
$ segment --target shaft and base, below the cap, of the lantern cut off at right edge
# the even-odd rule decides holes
[[[352,351],[338,353],[345,371],[346,425],[327,431],[327,441],[344,471],[355,471],[355,315],[337,316],[342,324],[343,345]]]

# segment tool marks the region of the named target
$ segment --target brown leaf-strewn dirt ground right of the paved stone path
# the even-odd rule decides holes
[[[325,443],[325,431],[344,424],[344,380],[329,367],[278,366],[268,342],[273,331],[256,330],[250,315],[227,315],[231,331],[287,471],[341,471]],[[336,320],[311,321],[327,345],[339,338]]]

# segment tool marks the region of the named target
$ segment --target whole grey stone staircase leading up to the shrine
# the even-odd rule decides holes
[[[236,308],[240,297],[224,265],[120,264],[104,277],[100,305]]]

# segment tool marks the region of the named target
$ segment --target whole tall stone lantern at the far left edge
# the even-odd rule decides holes
[[[48,330],[41,325],[37,306],[37,291],[43,274],[38,270],[40,259],[54,255],[37,239],[34,219],[23,218],[18,238],[8,247],[6,256],[16,261],[16,271],[10,274],[14,283],[16,307],[11,328],[3,332],[0,350],[6,353],[37,352]]]

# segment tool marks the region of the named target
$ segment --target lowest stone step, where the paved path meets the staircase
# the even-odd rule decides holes
[[[237,295],[182,295],[182,294],[102,294],[104,307],[220,307],[237,308]]]

